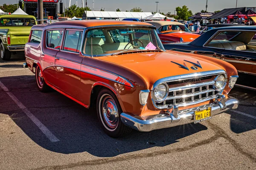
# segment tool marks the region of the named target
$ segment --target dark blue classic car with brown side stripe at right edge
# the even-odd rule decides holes
[[[256,90],[249,80],[256,77],[256,26],[214,28],[192,42],[164,44],[166,50],[222,59],[239,72],[237,85]]]

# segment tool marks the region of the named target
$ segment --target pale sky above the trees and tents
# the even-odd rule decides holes
[[[67,0],[64,0],[65,4]],[[69,0],[68,0],[69,1]],[[156,6],[158,1],[158,8]],[[3,3],[14,4],[17,0],[0,0],[0,5]],[[75,4],[76,0],[71,0],[71,5]],[[79,6],[82,6],[82,0],[78,0]],[[85,0],[84,0],[85,4]],[[93,0],[87,0],[87,5],[92,9]],[[116,11],[119,8],[121,11],[130,11],[131,8],[140,7],[143,12],[152,12],[160,10],[160,12],[174,14],[177,6],[188,6],[189,10],[192,10],[193,14],[205,10],[206,0],[94,0],[95,11],[105,8],[105,11]],[[65,5],[66,6],[66,5]],[[85,5],[84,5],[85,6]],[[237,7],[255,7],[256,0],[238,0]],[[222,10],[224,8],[235,8],[236,0],[208,0],[207,11],[213,12]]]

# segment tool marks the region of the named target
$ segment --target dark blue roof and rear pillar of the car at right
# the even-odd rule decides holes
[[[221,28],[213,28],[209,31],[206,31],[200,37],[190,42],[189,45],[193,46],[203,46],[205,42],[207,42],[217,31],[228,30],[228,31],[255,31],[256,26],[230,26],[230,27],[221,27]]]

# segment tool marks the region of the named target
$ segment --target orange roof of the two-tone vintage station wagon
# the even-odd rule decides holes
[[[56,27],[70,27],[73,28],[89,28],[89,27],[96,27],[96,26],[150,26],[154,27],[149,23],[137,22],[137,21],[119,21],[119,20],[67,20],[61,22],[55,22],[48,25],[44,25],[44,28],[56,28]],[[40,25],[34,26],[34,28],[41,27]]]

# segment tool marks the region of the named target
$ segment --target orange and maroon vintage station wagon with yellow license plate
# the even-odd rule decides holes
[[[165,51],[148,23],[63,21],[33,26],[26,62],[38,88],[96,105],[108,135],[198,123],[236,109],[237,71],[219,59]]]

